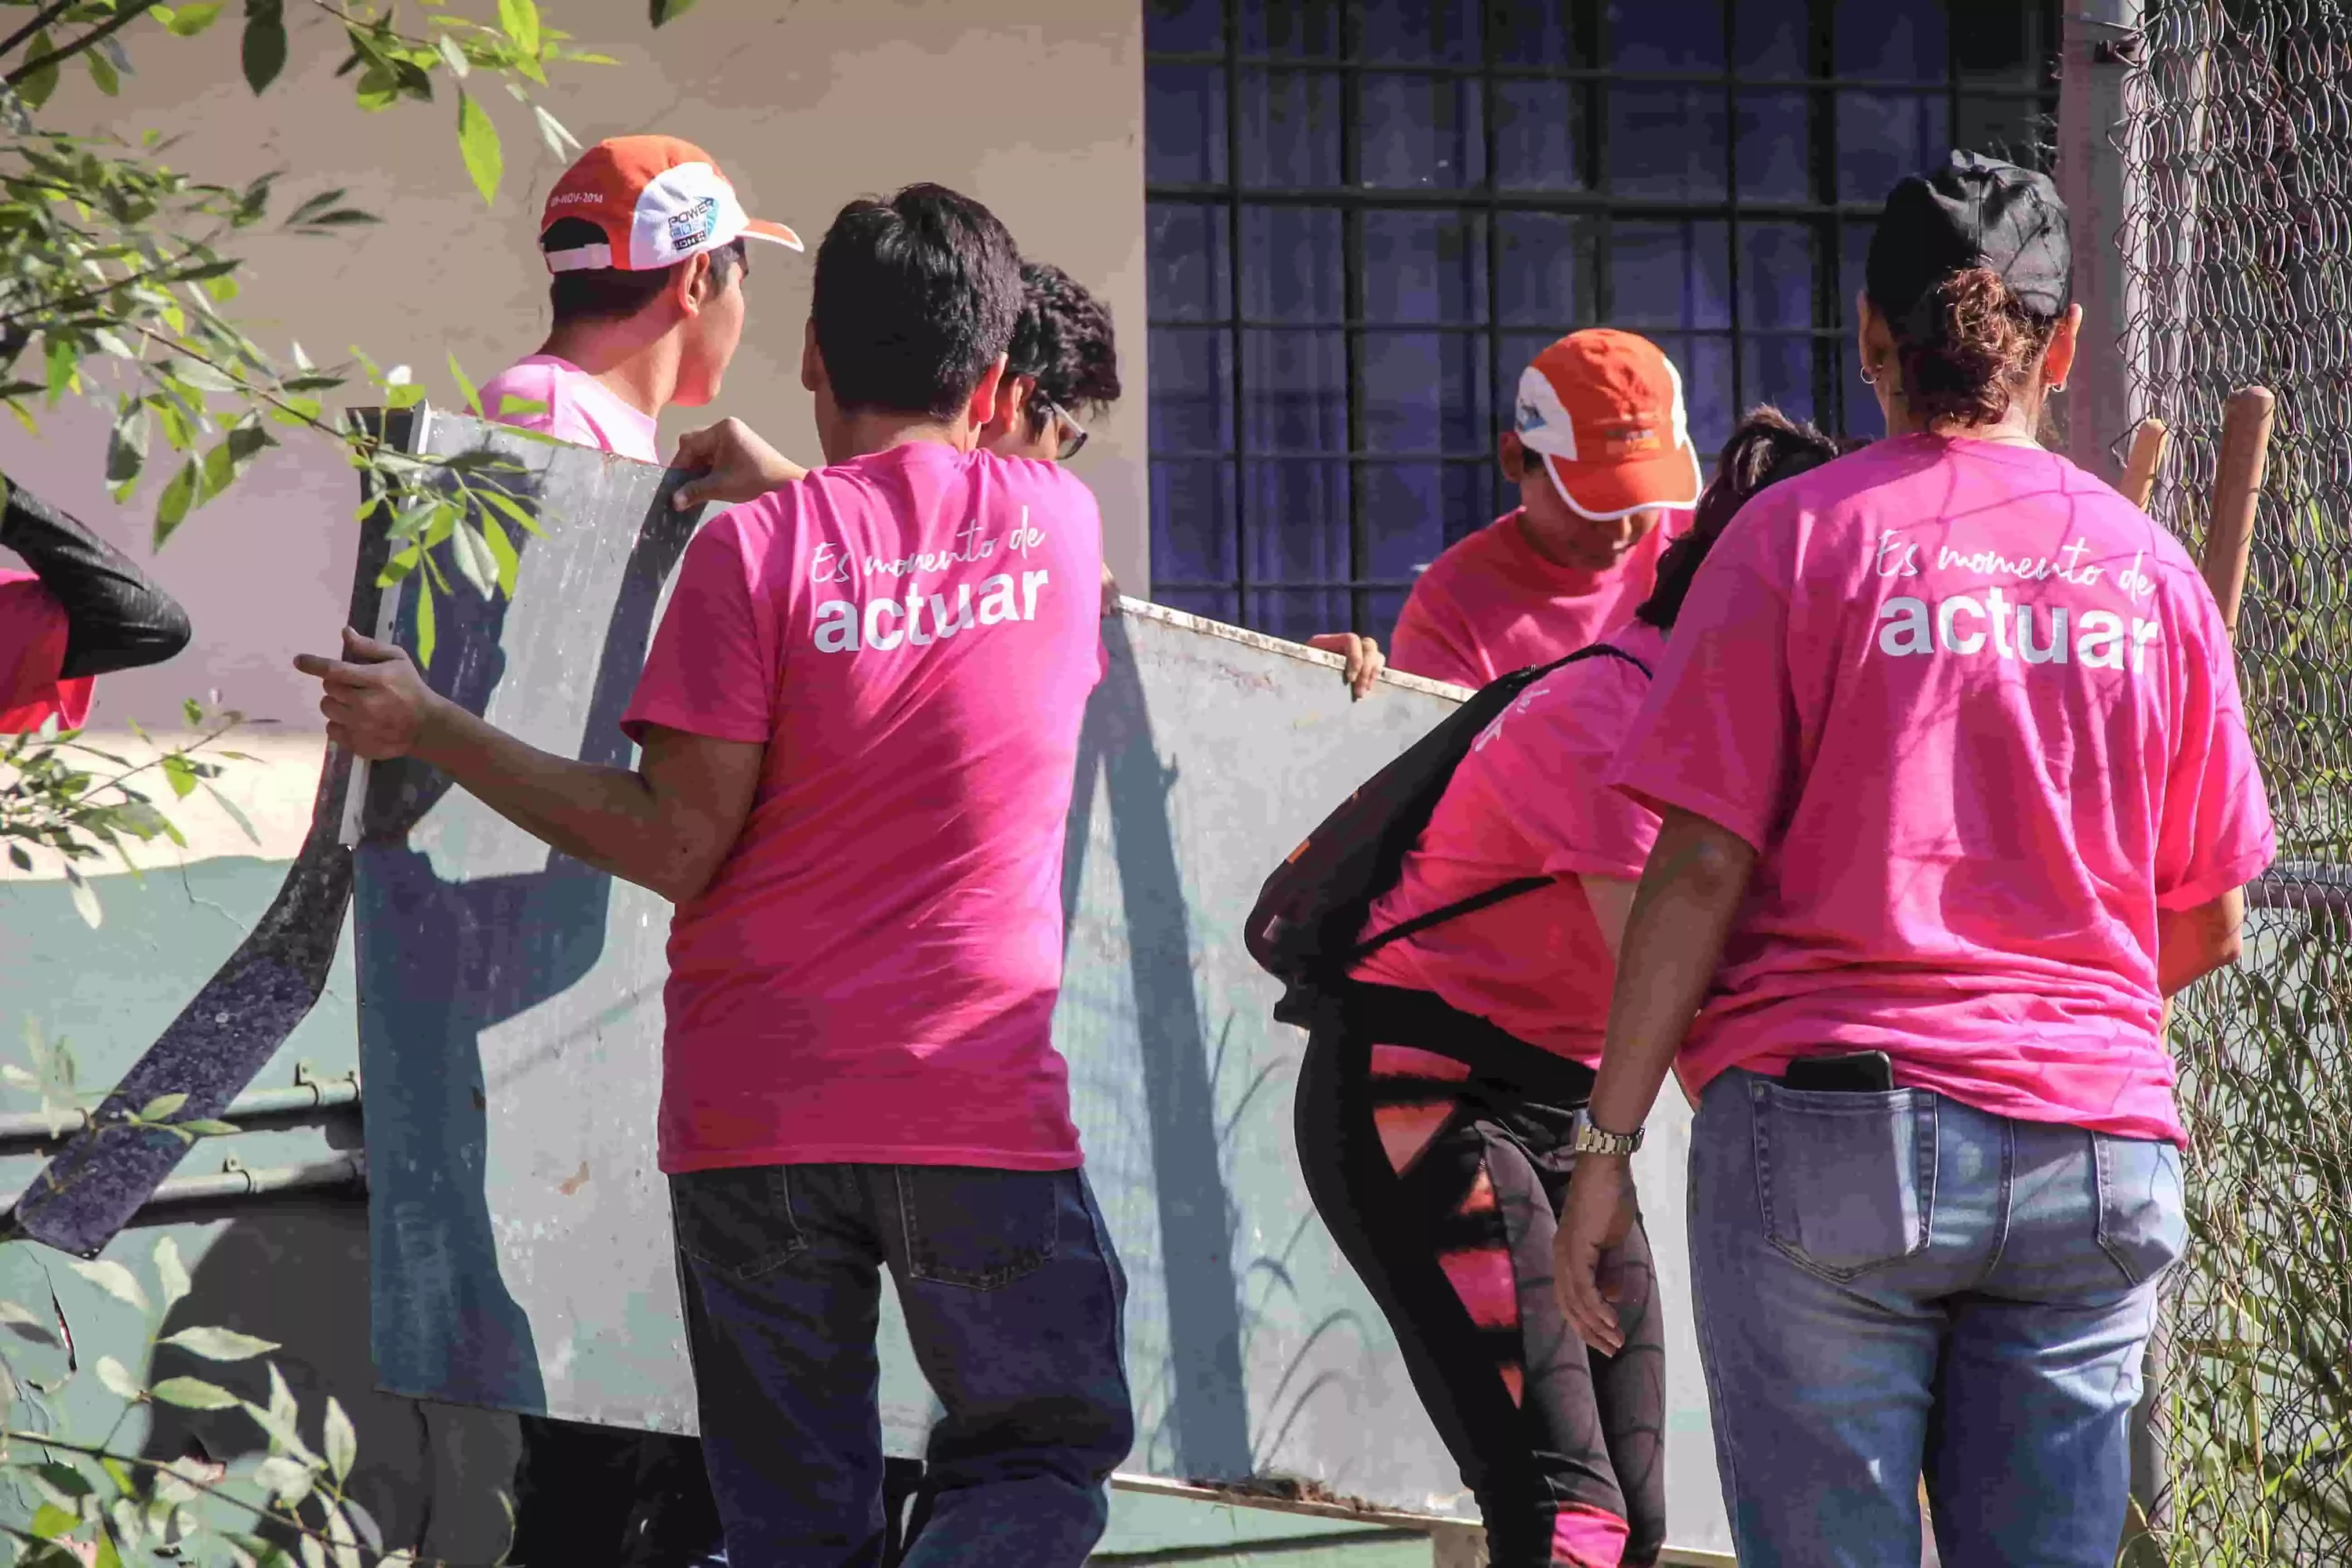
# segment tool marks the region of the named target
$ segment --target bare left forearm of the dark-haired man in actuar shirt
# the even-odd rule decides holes
[[[684,853],[642,773],[543,752],[454,703],[419,731],[416,757],[574,860],[680,896]]]

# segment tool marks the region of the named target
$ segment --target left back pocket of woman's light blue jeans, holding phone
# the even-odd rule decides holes
[[[1926,1248],[1936,1103],[1917,1088],[1820,1093],[1752,1084],[1757,1201],[1783,1253],[1853,1279]]]

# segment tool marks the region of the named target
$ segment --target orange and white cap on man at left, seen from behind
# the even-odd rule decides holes
[[[546,252],[550,273],[652,273],[734,240],[802,249],[783,223],[743,212],[710,153],[677,136],[614,136],[581,153],[548,190],[539,233],[562,219],[595,223],[604,244]]]

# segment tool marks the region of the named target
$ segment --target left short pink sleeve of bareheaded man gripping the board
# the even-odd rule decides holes
[[[743,529],[743,517],[727,512],[687,545],[670,609],[621,715],[630,741],[642,743],[649,724],[713,741],[774,736],[783,649],[774,618],[755,604]]]

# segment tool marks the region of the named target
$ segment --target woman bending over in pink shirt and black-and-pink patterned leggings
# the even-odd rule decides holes
[[[1590,1356],[1552,1300],[1571,1119],[1592,1086],[1613,952],[1658,818],[1604,788],[1708,545],[1740,503],[1837,456],[1757,409],[1639,618],[1531,684],[1454,771],[1364,936],[1522,877],[1548,886],[1430,924],[1352,969],[1348,1023],[1298,1084],[1308,1190],[1404,1347],[1498,1566],[1651,1563],[1665,1542],[1661,1312],[1621,1248],[1639,1354]]]

